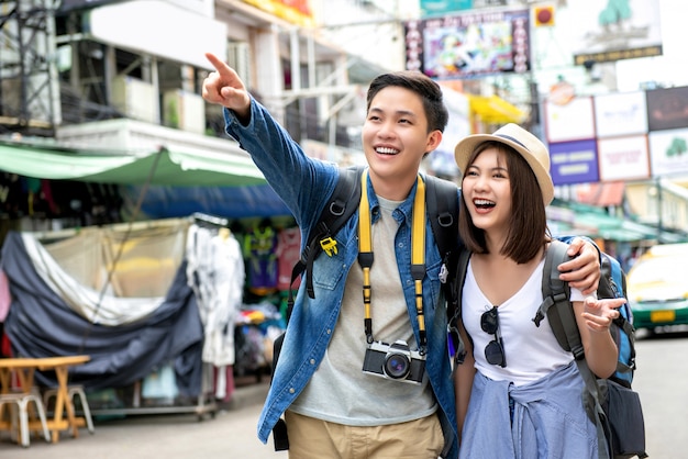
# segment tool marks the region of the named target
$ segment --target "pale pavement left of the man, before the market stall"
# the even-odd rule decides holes
[[[211,459],[260,458],[287,459],[276,452],[271,438],[263,445],[256,425],[268,381],[237,387],[230,403],[220,406],[214,417],[197,414],[129,415],[109,419],[96,417],[95,434],[86,428],[78,438],[60,434],[57,444],[32,436],[31,446],[22,448],[0,433],[2,459]],[[103,416],[104,417],[104,416]]]

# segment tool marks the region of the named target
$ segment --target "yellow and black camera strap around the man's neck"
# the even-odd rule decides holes
[[[373,315],[370,312],[370,268],[373,267],[373,237],[370,204],[368,201],[368,171],[360,175],[360,203],[358,208],[358,264],[363,268],[364,325],[368,344],[373,338]],[[423,278],[425,277],[425,182],[418,176],[411,226],[411,275],[415,284],[415,313],[421,354],[425,352],[425,316],[423,311]]]

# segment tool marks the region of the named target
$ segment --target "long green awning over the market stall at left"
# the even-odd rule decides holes
[[[242,152],[243,154],[243,152]],[[24,177],[100,183],[176,187],[263,184],[265,178],[247,154],[151,152],[113,155],[0,141],[0,169]]]

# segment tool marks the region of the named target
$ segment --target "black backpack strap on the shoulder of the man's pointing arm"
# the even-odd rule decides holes
[[[340,177],[336,186],[330,199],[325,202],[325,206],[318,217],[318,223],[315,223],[309,234],[308,242],[301,253],[301,258],[291,270],[290,284],[293,284],[293,281],[306,271],[306,287],[310,298],[315,298],[313,280],[311,278],[313,260],[322,250],[329,254],[331,251],[336,254],[336,243],[334,243],[333,236],[358,208],[358,201],[360,201],[359,179],[362,172],[363,166],[340,168]],[[290,314],[291,306],[293,305],[293,293],[291,289],[289,289],[288,304],[287,315]]]

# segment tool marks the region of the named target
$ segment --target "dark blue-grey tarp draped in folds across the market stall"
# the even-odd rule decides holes
[[[174,362],[179,393],[200,394],[203,327],[186,262],[152,315],[121,326],[92,324],[69,307],[36,273],[20,233],[8,233],[1,264],[12,296],[4,331],[14,356],[89,355],[70,370],[69,383],[90,389],[130,385]],[[36,373],[36,382],[57,385],[51,372]]]

